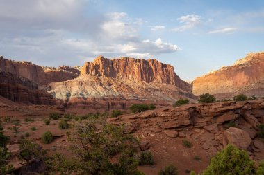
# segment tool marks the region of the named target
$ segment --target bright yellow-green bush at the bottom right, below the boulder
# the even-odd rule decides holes
[[[211,158],[210,165],[202,173],[202,175],[212,174],[254,174],[254,162],[249,158],[246,151],[240,150],[233,145],[228,145],[217,153],[214,158]]]

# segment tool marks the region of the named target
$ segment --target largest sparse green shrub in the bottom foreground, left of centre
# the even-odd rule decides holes
[[[100,132],[98,125],[101,126]],[[72,151],[79,155],[76,157],[77,174],[138,174],[135,146],[139,142],[125,132],[124,126],[91,119],[77,127],[76,133],[69,136],[69,141],[72,142]],[[119,154],[118,162],[111,163],[110,158],[116,154]]]

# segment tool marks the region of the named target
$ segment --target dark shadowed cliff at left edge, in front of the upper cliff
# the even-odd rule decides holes
[[[3,71],[0,71],[0,96],[24,104],[55,104],[52,95],[39,91],[35,82]]]

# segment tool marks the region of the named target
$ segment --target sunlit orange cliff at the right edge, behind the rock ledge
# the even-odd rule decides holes
[[[264,94],[264,53],[249,53],[233,66],[197,77],[192,82],[192,93],[212,93],[219,98],[231,98],[238,93]]]

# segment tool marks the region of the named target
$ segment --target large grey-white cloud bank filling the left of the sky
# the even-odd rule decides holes
[[[75,66],[97,55],[156,57],[179,50],[160,38],[142,37],[144,19],[126,12],[91,12],[90,5],[88,0],[0,1],[0,55],[44,66]]]

